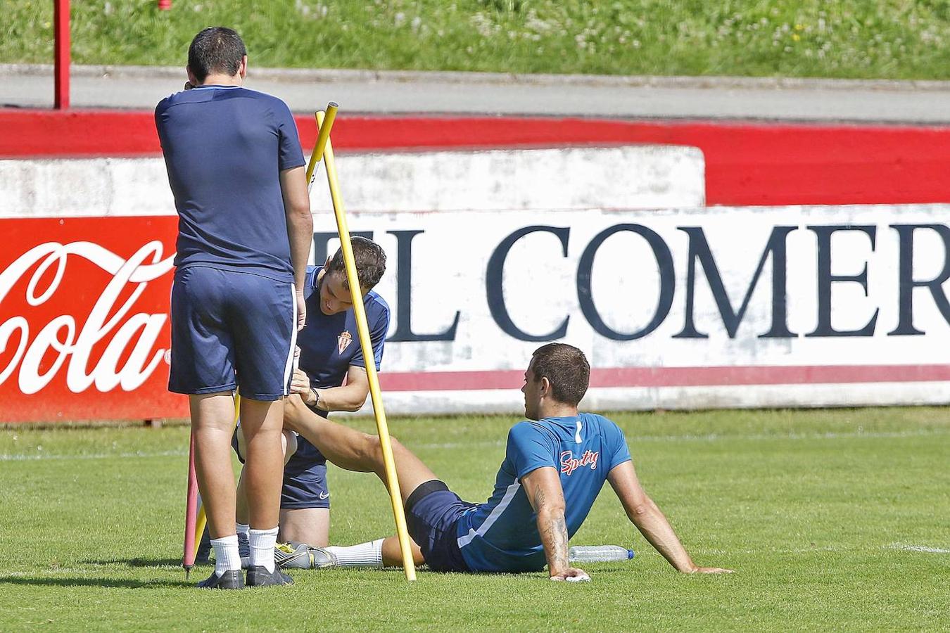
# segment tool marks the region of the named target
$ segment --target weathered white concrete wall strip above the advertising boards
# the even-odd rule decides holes
[[[337,158],[353,211],[660,209],[705,204],[692,147],[404,152]],[[330,211],[314,186],[314,212]],[[0,160],[0,217],[174,214],[161,158]]]

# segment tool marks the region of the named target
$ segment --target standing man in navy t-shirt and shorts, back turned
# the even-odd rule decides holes
[[[155,124],[179,214],[170,391],[188,394],[195,467],[215,549],[199,586],[241,588],[232,392],[247,439],[248,586],[291,584],[274,566],[282,481],[281,400],[289,393],[313,220],[294,119],[276,97],[241,87],[247,53],[230,28],[188,48],[188,84]]]

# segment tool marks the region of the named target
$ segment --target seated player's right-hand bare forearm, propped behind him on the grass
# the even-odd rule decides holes
[[[673,526],[640,486],[633,462],[625,461],[615,466],[607,480],[617,493],[627,517],[670,565],[683,573],[731,573],[731,569],[702,568],[693,563]]]

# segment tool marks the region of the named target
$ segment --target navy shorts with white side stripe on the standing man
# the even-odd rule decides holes
[[[233,391],[252,400],[290,393],[294,284],[252,272],[190,266],[175,272],[168,390]]]

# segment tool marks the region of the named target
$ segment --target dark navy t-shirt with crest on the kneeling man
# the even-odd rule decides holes
[[[350,365],[365,367],[363,350],[356,332],[356,316],[352,308],[327,316],[320,311],[320,292],[316,278],[323,267],[307,268],[304,297],[307,300],[307,325],[297,334],[300,347],[299,367],[314,389],[338,387],[343,384]],[[367,326],[370,327],[372,353],[376,370],[383,362],[383,345],[390,327],[390,307],[381,296],[370,290],[363,297]]]

